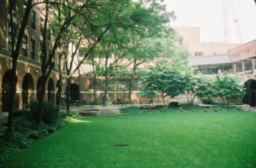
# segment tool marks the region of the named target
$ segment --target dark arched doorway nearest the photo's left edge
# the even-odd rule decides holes
[[[4,79],[1,83],[2,91],[2,112],[9,112],[10,110],[10,91],[11,91],[11,80],[12,79],[12,70],[7,70],[4,74]]]

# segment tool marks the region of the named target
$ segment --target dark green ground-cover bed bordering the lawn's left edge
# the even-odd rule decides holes
[[[49,105],[49,103],[46,104]],[[37,103],[32,102],[30,107],[32,109],[37,107]],[[11,137],[7,137],[7,128],[0,126],[0,167],[4,165],[1,163],[7,162],[9,156],[18,150],[18,148],[27,148],[33,140],[38,140],[53,133],[57,129],[65,126],[71,118],[76,118],[75,112],[61,112],[59,118],[54,120],[54,123],[41,123],[38,125],[34,121],[35,114],[33,111],[20,110],[17,111],[17,114],[13,121],[14,133]]]

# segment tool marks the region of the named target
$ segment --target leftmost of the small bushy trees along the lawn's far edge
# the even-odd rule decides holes
[[[159,94],[165,107],[168,106],[170,99],[184,93],[184,85],[187,81],[181,69],[181,62],[165,61],[157,62],[157,65],[150,67],[148,73],[143,75],[142,81],[146,85],[143,94]],[[165,102],[167,98],[167,104]]]

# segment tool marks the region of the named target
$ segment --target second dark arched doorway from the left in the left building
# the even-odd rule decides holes
[[[34,82],[32,76],[27,73],[22,83],[22,104],[23,107],[29,104],[29,90],[34,90]]]

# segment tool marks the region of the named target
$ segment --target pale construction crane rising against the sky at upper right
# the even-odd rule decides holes
[[[232,0],[222,0],[222,7],[223,7],[223,35],[224,35],[224,42],[229,42],[229,35],[230,35],[230,18],[229,18],[229,9],[231,10],[231,15],[233,17],[233,23],[236,28],[236,35],[238,37],[238,42],[242,43],[243,38],[240,31],[240,26],[238,23],[238,18],[236,17],[236,11],[233,6]]]

